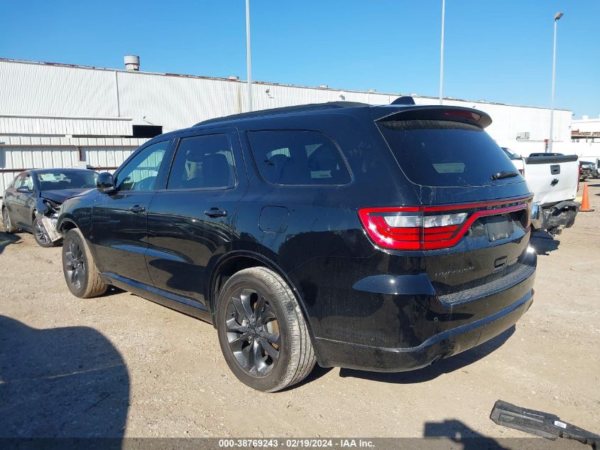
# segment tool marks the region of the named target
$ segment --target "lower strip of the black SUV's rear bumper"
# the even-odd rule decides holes
[[[317,355],[320,355],[319,363],[324,367],[339,366],[378,372],[415,370],[498,336],[511,328],[532,303],[533,289],[530,289],[501,311],[438,333],[417,347],[381,348],[317,338],[315,348]]]

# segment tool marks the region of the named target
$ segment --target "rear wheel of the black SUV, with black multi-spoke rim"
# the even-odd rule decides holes
[[[300,382],[315,367],[317,358],[300,306],[290,286],[271,269],[237,272],[217,301],[219,344],[241,382],[276,392]]]

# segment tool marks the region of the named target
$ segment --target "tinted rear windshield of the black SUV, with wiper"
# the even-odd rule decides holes
[[[444,120],[378,122],[381,134],[410,181],[422,186],[486,186],[501,171],[516,171],[508,156],[480,127]]]

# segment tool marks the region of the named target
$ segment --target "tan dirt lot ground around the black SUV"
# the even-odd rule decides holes
[[[231,375],[211,325],[122,291],[77,299],[60,248],[0,233],[0,436],[524,436],[491,422],[498,399],[600,432],[590,185],[596,212],[534,238],[535,301],[515,329],[413,373],[316,368],[276,394]]]

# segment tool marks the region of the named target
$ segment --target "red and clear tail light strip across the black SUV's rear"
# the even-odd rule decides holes
[[[361,208],[359,218],[371,239],[394,250],[432,250],[457,245],[477,218],[528,210],[531,199],[503,200],[464,205]]]

